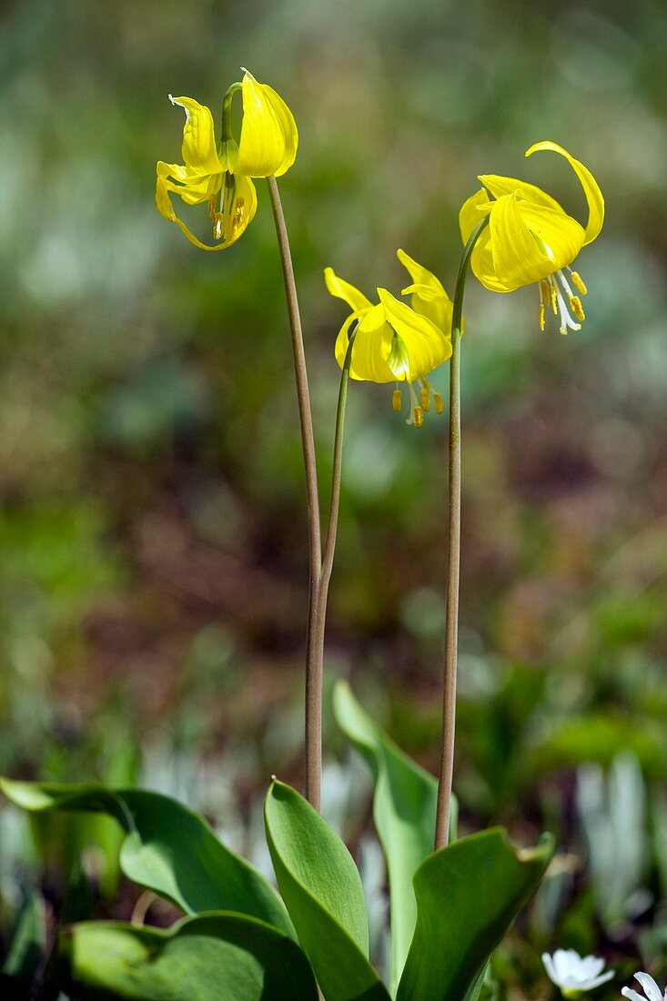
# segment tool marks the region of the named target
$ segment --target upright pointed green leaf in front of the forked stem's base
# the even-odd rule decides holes
[[[388,1001],[368,960],[364,890],[346,846],[281,782],[271,783],[264,819],[282,899],[326,1001]]]

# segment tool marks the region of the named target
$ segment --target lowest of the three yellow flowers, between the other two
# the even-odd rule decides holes
[[[407,256],[407,255],[406,255]],[[410,259],[410,258],[409,258]],[[392,403],[401,409],[400,382],[407,382],[412,420],[419,427],[424,411],[431,406],[428,373],[452,354],[448,334],[426,314],[395,298],[386,288],[378,289],[380,302],[374,305],[358,288],[344,281],[332,268],[324,269],[324,281],[331,295],[343,299],[353,310],[341,327],[336,341],[336,358],[341,367],[348,350],[350,330],[357,323],[350,375],[369,382],[396,382]],[[444,291],[444,290],[443,290]],[[421,402],[413,382],[422,387]],[[435,393],[435,406],[443,411],[443,399]]]

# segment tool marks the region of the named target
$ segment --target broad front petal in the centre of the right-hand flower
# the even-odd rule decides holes
[[[530,285],[556,270],[524,222],[516,194],[498,199],[489,229],[494,272],[504,291]]]

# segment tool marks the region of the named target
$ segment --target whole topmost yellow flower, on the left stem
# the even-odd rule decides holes
[[[238,143],[231,135],[230,112],[234,93],[241,91],[243,118]],[[171,97],[185,111],[183,163],[157,164],[155,202],[160,213],[177,223],[191,243],[202,250],[223,250],[243,234],[257,208],[250,177],[279,177],[296,156],[298,133],[291,111],[266,84],[244,71],[241,83],[227,91],[223,106],[223,136],[215,141],[210,110],[191,97]],[[202,243],[176,215],[170,192],[187,205],[208,203],[213,238]]]

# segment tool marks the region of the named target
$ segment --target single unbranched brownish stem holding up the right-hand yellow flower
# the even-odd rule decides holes
[[[486,216],[470,235],[459,265],[452,312],[452,357],[450,359],[450,489],[449,540],[447,549],[447,600],[445,607],[445,670],[443,678],[443,736],[441,742],[436,851],[449,841],[454,738],[457,708],[457,651],[459,638],[459,583],[461,570],[461,326],[463,300],[470,258]]]

